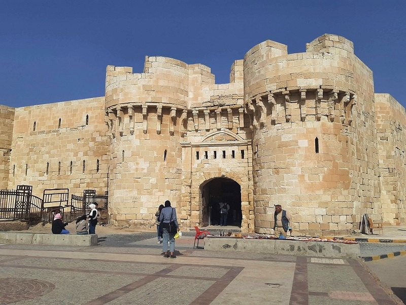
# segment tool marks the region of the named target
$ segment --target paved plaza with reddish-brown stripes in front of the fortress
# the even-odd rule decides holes
[[[183,236],[177,258],[163,258],[154,233],[1,245],[0,304],[396,304],[355,259],[192,248]]]

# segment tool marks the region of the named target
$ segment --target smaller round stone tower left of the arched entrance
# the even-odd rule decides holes
[[[139,74],[128,67],[107,67],[108,191],[113,224],[150,226],[165,200],[176,207],[187,96],[188,67],[179,60],[147,56],[144,73]]]

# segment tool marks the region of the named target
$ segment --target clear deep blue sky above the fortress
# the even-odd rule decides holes
[[[216,83],[254,45],[289,53],[324,33],[354,42],[375,92],[402,105],[406,1],[0,0],[0,104],[21,107],[104,96],[107,65],[140,73],[145,55],[209,66]]]

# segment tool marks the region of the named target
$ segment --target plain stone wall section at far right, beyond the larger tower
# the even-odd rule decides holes
[[[406,223],[406,111],[389,94],[375,94],[383,222]]]

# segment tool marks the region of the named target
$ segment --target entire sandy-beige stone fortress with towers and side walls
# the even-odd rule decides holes
[[[5,101],[6,102],[6,101]],[[406,113],[375,94],[353,43],[325,34],[288,54],[265,41],[216,84],[210,68],[147,56],[108,66],[105,97],[0,106],[0,189],[108,191],[110,223],[150,226],[171,200],[181,227],[272,233],[274,204],[294,235],[346,234],[363,213],[406,224]]]

